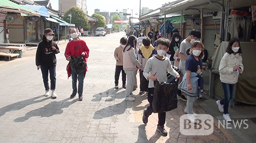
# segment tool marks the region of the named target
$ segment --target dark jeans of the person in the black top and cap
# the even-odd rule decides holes
[[[46,91],[48,91],[50,89],[49,83],[48,83],[48,73],[49,72],[50,72],[50,80],[51,80],[51,90],[55,90],[55,87],[56,87],[56,65],[53,65],[52,67],[41,66],[40,68],[41,68],[41,72],[42,72],[42,80],[44,81]]]

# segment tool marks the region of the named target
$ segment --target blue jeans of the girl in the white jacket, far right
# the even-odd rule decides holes
[[[223,105],[224,114],[227,114],[228,113],[228,103],[229,103],[229,100],[232,99],[236,84],[228,84],[228,83],[223,83],[223,82],[221,82],[221,84],[222,84],[222,88],[224,91],[224,98],[220,101],[220,103]]]

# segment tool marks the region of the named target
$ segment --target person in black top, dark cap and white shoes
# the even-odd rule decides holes
[[[50,95],[50,88],[48,83],[48,73],[50,72],[51,80],[51,91],[52,98],[57,98],[55,93],[56,87],[56,56],[55,54],[59,53],[59,48],[56,43],[53,42],[54,33],[51,28],[46,28],[44,31],[44,36],[42,41],[38,44],[36,50],[36,59],[35,63],[37,70],[41,69],[42,79],[44,80],[44,85],[46,89],[45,96]]]

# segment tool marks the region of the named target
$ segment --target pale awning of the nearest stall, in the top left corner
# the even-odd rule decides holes
[[[30,10],[24,6],[20,6],[8,0],[1,0],[0,3],[0,12],[15,12],[15,13],[24,13],[29,15],[34,15],[40,17],[40,14]]]

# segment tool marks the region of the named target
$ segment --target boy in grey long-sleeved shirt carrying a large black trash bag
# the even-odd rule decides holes
[[[148,116],[150,116],[153,112],[158,112],[157,130],[162,135],[166,136],[167,131],[164,129],[166,111],[177,108],[177,96],[166,96],[170,95],[172,92],[170,91],[172,84],[166,84],[166,70],[170,74],[175,75],[176,78],[179,78],[180,75],[173,69],[169,59],[164,56],[166,51],[168,51],[170,41],[168,39],[159,38],[156,43],[157,55],[148,59],[143,72],[144,77],[147,80],[150,80],[148,84],[147,96],[150,106],[143,110],[142,121],[144,124],[146,124],[148,121]],[[159,97],[167,97],[171,99],[163,99]],[[168,102],[165,102],[166,100]]]

